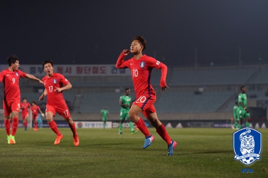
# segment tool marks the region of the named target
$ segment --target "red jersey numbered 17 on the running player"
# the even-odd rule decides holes
[[[63,97],[63,92],[57,93],[55,91],[56,87],[57,88],[62,88],[63,85],[67,85],[69,81],[59,73],[53,73],[52,77],[44,77],[42,79],[44,86],[47,90],[47,104],[52,105],[52,106],[59,106],[65,103],[65,99]]]

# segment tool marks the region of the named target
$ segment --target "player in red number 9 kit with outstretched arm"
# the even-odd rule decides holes
[[[20,89],[19,78],[28,78],[31,80],[43,82],[31,74],[26,74],[19,68],[19,60],[16,55],[7,57],[8,68],[0,72],[0,82],[3,82],[3,110],[4,110],[4,127],[7,134],[7,143],[15,144],[15,134],[18,127],[18,113],[20,110]],[[12,113],[12,133],[10,134],[10,119]]]

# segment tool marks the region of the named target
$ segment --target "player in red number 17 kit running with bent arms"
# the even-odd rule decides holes
[[[46,60],[43,62],[42,66],[47,75],[42,79],[45,90],[39,97],[39,100],[43,100],[44,97],[48,95],[46,118],[51,130],[57,134],[54,144],[59,144],[63,138],[63,134],[59,131],[56,122],[53,120],[53,116],[58,112],[65,118],[72,131],[74,146],[78,146],[79,138],[76,133],[75,123],[71,119],[68,106],[63,97],[63,90],[71,89],[71,84],[62,74],[54,73],[53,61]],[[65,85],[65,87],[63,87],[63,85]]]

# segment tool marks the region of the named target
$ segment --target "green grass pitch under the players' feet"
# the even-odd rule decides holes
[[[74,147],[70,129],[59,145],[50,129],[18,129],[9,145],[0,129],[0,178],[265,178],[268,176],[268,129],[263,133],[261,159],[245,166],[233,159],[231,129],[167,129],[178,142],[167,157],[167,145],[155,132],[153,143],[142,149],[144,137],[123,129],[77,129]],[[254,173],[242,173],[242,168]]]

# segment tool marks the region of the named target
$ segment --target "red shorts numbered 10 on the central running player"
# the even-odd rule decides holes
[[[138,106],[142,109],[142,114],[147,118],[147,115],[150,113],[156,112],[153,103],[155,102],[156,96],[155,94],[151,94],[150,96],[144,94],[138,97],[137,100],[134,101],[134,105]]]

